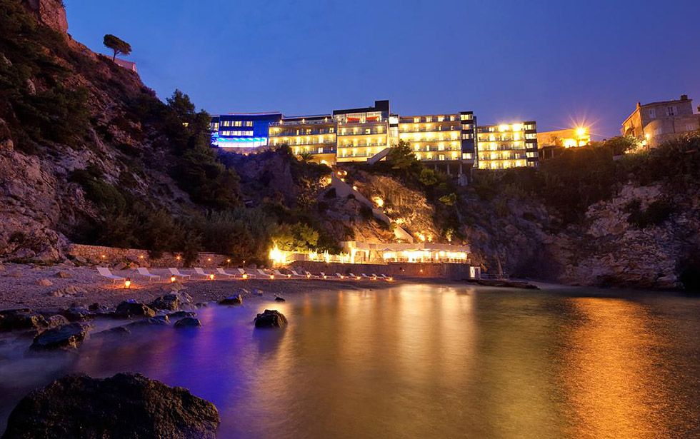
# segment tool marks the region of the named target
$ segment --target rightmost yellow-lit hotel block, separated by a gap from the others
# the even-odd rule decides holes
[[[479,169],[531,167],[539,164],[534,121],[476,128]]]

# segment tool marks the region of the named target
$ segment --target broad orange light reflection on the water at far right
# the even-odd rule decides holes
[[[672,379],[656,358],[660,341],[639,303],[571,298],[580,321],[565,340],[563,387],[572,435],[667,438]]]

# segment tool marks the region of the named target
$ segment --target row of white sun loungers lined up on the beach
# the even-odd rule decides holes
[[[168,268],[168,271],[170,272],[170,277],[174,280],[179,280],[179,281],[187,281],[194,276],[195,278],[201,278],[201,279],[211,279],[214,280],[216,277],[219,278],[227,278],[227,279],[250,279],[250,278],[263,278],[263,279],[288,279],[288,278],[305,278],[305,279],[366,279],[370,281],[377,281],[377,280],[384,280],[384,281],[393,281],[394,278],[391,278],[390,276],[386,276],[384,274],[376,275],[376,274],[371,274],[371,275],[366,275],[365,273],[361,273],[360,276],[356,276],[353,273],[349,273],[347,275],[343,275],[341,273],[335,273],[332,275],[327,275],[326,273],[322,272],[319,274],[311,274],[308,271],[295,271],[295,270],[289,270],[290,273],[281,273],[279,270],[270,270],[270,271],[265,271],[262,270],[261,268],[258,268],[254,271],[246,271],[243,268],[236,268],[236,272],[234,273],[229,273],[224,268],[216,268],[216,273],[206,273],[203,268],[201,267],[195,267],[194,268],[194,273],[193,274],[188,274],[188,273],[182,273],[179,271],[178,268]],[[116,283],[117,281],[125,281],[126,279],[121,277],[121,276],[115,276],[114,274],[109,271],[109,268],[105,267],[98,267],[97,272],[99,273],[100,276],[109,279],[112,281],[112,283]],[[161,276],[157,274],[153,274],[149,271],[148,268],[144,267],[139,267],[136,268],[136,273],[139,273],[139,276],[144,276],[145,278],[148,278],[149,282],[151,281],[160,281]]]

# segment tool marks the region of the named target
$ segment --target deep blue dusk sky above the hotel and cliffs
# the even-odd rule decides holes
[[[636,101],[700,104],[699,0],[66,0],[95,51],[115,34],[164,98],[210,113],[326,113],[390,99],[402,114],[594,123]]]

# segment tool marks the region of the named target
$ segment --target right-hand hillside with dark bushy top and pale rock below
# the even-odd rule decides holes
[[[491,273],[588,286],[696,289],[700,137],[615,156],[569,151],[539,172],[477,173],[462,231]]]

